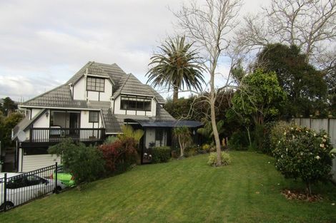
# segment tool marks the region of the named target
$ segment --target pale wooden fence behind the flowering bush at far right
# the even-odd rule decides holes
[[[316,131],[325,130],[330,136],[332,146],[336,147],[336,119],[335,118],[295,118],[297,125],[303,125]],[[336,158],[332,160],[332,180],[336,182]]]

